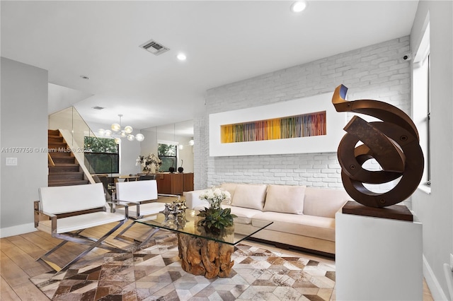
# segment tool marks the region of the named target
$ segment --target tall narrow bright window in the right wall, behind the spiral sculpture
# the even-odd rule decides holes
[[[430,25],[428,23],[413,60],[413,121],[420,136],[420,146],[425,156],[425,168],[420,184],[431,185],[430,151]]]

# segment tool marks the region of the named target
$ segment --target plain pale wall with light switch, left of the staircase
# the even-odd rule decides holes
[[[33,201],[47,187],[47,71],[1,57],[1,237],[35,230]],[[27,148],[29,152],[11,150]],[[17,166],[6,166],[6,158]]]

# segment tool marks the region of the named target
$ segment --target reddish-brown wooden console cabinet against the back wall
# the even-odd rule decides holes
[[[183,194],[193,190],[193,173],[161,173],[156,175],[159,194]]]

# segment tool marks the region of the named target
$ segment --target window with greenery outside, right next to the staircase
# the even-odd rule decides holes
[[[120,147],[111,138],[84,138],[85,166],[94,174],[120,172]]]

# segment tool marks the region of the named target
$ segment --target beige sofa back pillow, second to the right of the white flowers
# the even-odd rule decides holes
[[[305,186],[268,185],[264,211],[304,213]]]

